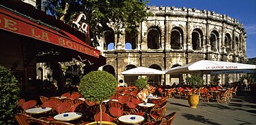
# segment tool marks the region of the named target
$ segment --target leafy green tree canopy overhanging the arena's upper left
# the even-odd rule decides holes
[[[71,24],[73,19],[83,12],[86,23],[89,23],[92,46],[98,46],[97,38],[107,30],[111,23],[119,34],[120,29],[127,32],[136,31],[138,24],[150,15],[143,0],[52,0],[45,1],[45,10],[49,15]]]

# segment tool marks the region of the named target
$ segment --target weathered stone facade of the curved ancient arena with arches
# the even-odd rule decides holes
[[[140,23],[138,33],[131,35],[112,29],[104,32],[99,50],[107,58],[107,70],[117,79],[131,81],[122,71],[138,66],[165,70],[194,61],[215,60],[242,63],[246,58],[246,31],[237,19],[208,10],[148,6],[153,16]],[[111,27],[111,26],[110,26]],[[212,77],[204,75],[210,83]],[[221,83],[239,79],[239,75],[220,75]],[[178,78],[171,79],[171,78]],[[230,79],[227,79],[230,78]],[[156,82],[183,82],[181,75],[154,76]]]

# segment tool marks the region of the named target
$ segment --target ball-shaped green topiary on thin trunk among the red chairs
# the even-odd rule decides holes
[[[93,71],[84,75],[80,80],[80,93],[90,102],[100,104],[100,124],[102,124],[102,101],[109,99],[116,93],[118,82],[116,78],[106,71]]]

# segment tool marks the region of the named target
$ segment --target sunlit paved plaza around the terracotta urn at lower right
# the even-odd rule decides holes
[[[199,102],[188,108],[188,100],[168,99],[167,114],[176,111],[172,124],[256,124],[256,97],[250,91],[238,91],[230,103]]]

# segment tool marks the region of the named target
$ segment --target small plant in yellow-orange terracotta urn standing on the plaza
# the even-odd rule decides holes
[[[191,75],[190,77],[186,77],[185,81],[192,87],[192,95],[188,95],[188,104],[190,104],[190,108],[196,108],[197,104],[199,104],[199,95],[195,93],[196,87],[200,87],[203,85],[203,79],[201,75]]]

